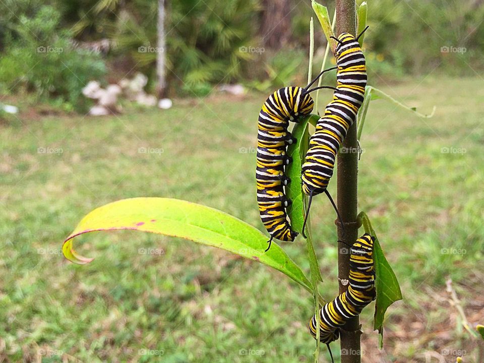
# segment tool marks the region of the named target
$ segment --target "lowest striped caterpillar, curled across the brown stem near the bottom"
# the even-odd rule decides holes
[[[320,310],[319,339],[328,346],[330,354],[329,343],[339,338],[339,328],[375,299],[374,241],[375,237],[368,233],[356,239],[350,249],[348,289]],[[309,329],[316,339],[316,314]]]

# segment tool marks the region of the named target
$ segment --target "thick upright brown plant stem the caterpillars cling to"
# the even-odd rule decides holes
[[[336,0],[336,36],[347,32],[356,32],[356,14],[354,0]],[[356,123],[349,128],[342,146],[346,150],[356,150]],[[338,210],[344,223],[344,237],[341,226],[338,228],[338,237],[346,244],[352,245],[358,237],[357,212],[357,171],[358,155],[355,152],[338,154]],[[344,244],[338,244],[338,277],[347,279],[349,275],[349,254],[341,253]],[[339,284],[339,292],[346,291],[348,286]],[[360,329],[359,318],[348,320],[341,329],[341,363],[360,363]]]

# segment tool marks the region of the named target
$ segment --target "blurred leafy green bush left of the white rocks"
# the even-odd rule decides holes
[[[67,110],[84,111],[82,88],[91,78],[105,74],[104,61],[73,47],[69,31],[59,27],[61,14],[53,7],[40,6],[28,13],[15,17],[4,32],[8,41],[0,58],[0,92],[25,89],[39,98],[55,99]]]

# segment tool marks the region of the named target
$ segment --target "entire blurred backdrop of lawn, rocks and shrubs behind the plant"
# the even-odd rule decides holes
[[[482,362],[463,323],[484,324],[484,2],[368,8],[369,84],[437,108],[419,118],[374,100],[367,115],[359,209],[404,299],[381,351],[374,305],[364,311],[362,361]],[[0,361],[311,361],[312,297],[263,265],[129,231],[79,238],[97,257],[88,266],[61,247],[90,210],[138,196],[263,230],[258,112],[272,90],[306,84],[312,16],[309,0],[0,0]],[[325,45],[315,17],[313,74]],[[321,92],[320,111],[331,97]],[[334,211],[325,198],[312,208],[331,299]],[[309,271],[302,238],[283,247]]]

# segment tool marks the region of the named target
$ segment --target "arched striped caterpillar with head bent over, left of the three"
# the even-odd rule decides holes
[[[297,232],[292,230],[287,219],[286,207],[291,203],[286,198],[284,187],[290,179],[284,174],[285,166],[291,159],[286,155],[287,145],[295,142],[287,130],[289,122],[297,123],[299,117],[309,115],[313,110],[314,102],[310,92],[320,88],[308,90],[316,80],[325,72],[336,67],[322,71],[305,88],[284,87],[271,94],[264,102],[259,112],[257,134],[257,202],[262,222],[271,235],[268,240],[271,247],[273,238],[283,241],[292,241]]]

